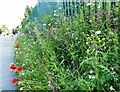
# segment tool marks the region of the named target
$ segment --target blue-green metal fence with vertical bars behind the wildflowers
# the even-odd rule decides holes
[[[79,14],[88,20],[94,15],[96,21],[99,13],[102,13],[102,20],[105,21],[107,11],[113,12],[111,18],[117,16],[115,10],[119,7],[119,3],[119,0],[38,0],[31,20],[37,18],[41,22],[44,15],[53,14],[56,10],[71,20],[76,14]]]

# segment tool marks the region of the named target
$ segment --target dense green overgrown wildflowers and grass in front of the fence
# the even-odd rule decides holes
[[[100,13],[89,22],[82,15],[73,21],[49,15],[42,28],[37,20],[26,23],[16,40],[16,64],[23,66],[17,88],[119,91],[118,10],[114,27],[109,22],[112,13],[106,12],[106,21]]]

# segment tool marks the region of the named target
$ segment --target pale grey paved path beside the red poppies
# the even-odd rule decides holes
[[[2,90],[16,90],[16,85],[11,82],[16,78],[10,70],[10,63],[15,61],[14,42],[16,36],[0,36],[0,92]]]

